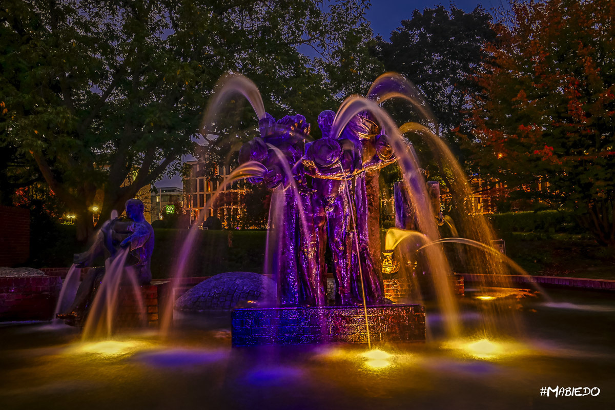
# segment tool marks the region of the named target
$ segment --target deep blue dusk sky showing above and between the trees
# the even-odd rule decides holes
[[[372,0],[370,10],[367,12],[367,19],[371,22],[371,28],[374,34],[381,35],[388,40],[391,36],[391,31],[401,25],[402,20],[408,20],[412,16],[415,9],[423,10],[427,7],[435,7],[438,4],[448,6],[454,4],[458,9],[465,12],[471,12],[478,5],[482,5],[483,9],[491,12],[496,7],[504,7],[507,1],[504,0],[457,0],[450,3],[432,2],[429,0]],[[191,160],[192,157],[185,160]],[[180,176],[173,178],[163,178],[155,184],[157,187],[176,186],[183,187]]]

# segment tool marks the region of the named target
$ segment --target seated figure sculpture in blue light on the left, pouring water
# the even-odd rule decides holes
[[[125,211],[128,220],[114,218],[107,221],[90,250],[75,255],[76,266],[92,266],[100,257],[108,257],[113,260],[119,250],[122,248],[128,249],[130,259],[124,267],[126,274],[134,275],[139,285],[147,285],[152,276],[149,266],[154,250],[154,230],[151,224],[145,220],[143,210],[141,200],[127,200]],[[79,326],[85,323],[104,276],[105,268],[89,269],[81,285],[79,285],[79,289],[77,289],[73,304],[65,313],[59,313],[57,317],[64,319],[66,324],[71,326]]]

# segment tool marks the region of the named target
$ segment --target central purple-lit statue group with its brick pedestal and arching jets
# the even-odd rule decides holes
[[[381,341],[424,339],[423,307],[394,305],[384,297],[383,271],[394,274],[399,263],[392,259],[394,246],[384,250],[381,260],[379,234],[379,170],[392,164],[398,164],[405,176],[395,186],[397,226],[421,231],[425,243],[432,243],[440,239],[437,226],[445,223],[439,184],[424,180],[416,153],[400,135],[411,128],[406,124],[398,131],[375,101],[409,98],[429,117],[416,93],[408,91],[412,90],[410,85],[395,74],[379,77],[368,93],[371,99],[351,97],[337,113],[321,112],[318,125],[322,138],[316,141],[311,141],[311,125],[300,114],[276,120],[266,113],[258,89],[244,77],[231,76],[217,90],[207,108],[202,133],[215,122],[224,98],[244,95],[259,119],[260,136],[240,148],[239,164],[260,164],[262,176],[248,181],[274,190],[265,272],[277,283],[279,307],[235,310],[233,344],[360,341],[371,345],[370,327]],[[190,242],[186,240],[185,250]],[[325,308],[327,247],[333,256],[336,306]],[[426,248],[424,254],[448,333],[454,336],[459,326],[450,291],[451,271],[438,246]],[[396,326],[387,321],[370,325],[376,317],[394,317],[391,312],[395,311],[402,312],[402,317],[392,320],[395,323],[414,318],[405,321],[408,328],[399,334],[390,330]],[[344,322],[341,317],[352,320]],[[303,323],[310,323],[313,329],[309,331],[310,326]],[[327,327],[325,323],[336,325]],[[280,333],[280,327],[285,331]],[[339,336],[346,333],[351,336]]]

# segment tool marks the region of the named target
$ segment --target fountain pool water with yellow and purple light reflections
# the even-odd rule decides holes
[[[466,291],[466,329],[444,337],[426,303],[427,342],[231,348],[229,316],[187,316],[156,334],[82,343],[78,329],[0,326],[0,403],[18,408],[609,408],[615,399],[615,301],[595,291]],[[485,304],[507,298],[531,336],[483,339]],[[500,323],[506,326],[506,323]],[[478,333],[477,333],[478,332]],[[541,396],[541,387],[598,387]]]

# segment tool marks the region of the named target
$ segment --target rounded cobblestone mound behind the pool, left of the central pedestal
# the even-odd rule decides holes
[[[226,272],[204,280],[183,294],[175,309],[186,312],[231,310],[247,301],[272,304],[276,301],[276,283],[253,272]]]

